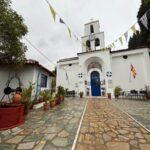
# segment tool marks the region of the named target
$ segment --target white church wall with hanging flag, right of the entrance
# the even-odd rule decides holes
[[[123,59],[127,55],[127,59]],[[131,74],[131,64],[137,71],[134,79]],[[140,90],[150,85],[150,58],[148,49],[137,49],[112,54],[113,87],[120,86],[123,90]]]

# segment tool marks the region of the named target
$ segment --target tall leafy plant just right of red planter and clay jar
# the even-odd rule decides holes
[[[29,83],[29,87],[23,89],[21,93],[21,104],[24,105],[24,114],[27,115],[29,108],[32,104],[31,96],[32,96],[32,91],[34,89],[34,84]]]

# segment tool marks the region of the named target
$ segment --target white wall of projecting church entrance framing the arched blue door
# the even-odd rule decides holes
[[[106,72],[110,71],[111,72],[111,57],[110,57],[110,52],[109,50],[106,51],[93,51],[90,53],[79,53],[79,66],[80,66],[80,71],[83,72],[85,75],[83,76],[82,80],[82,84],[80,84],[79,89],[81,91],[84,91],[84,93],[86,93],[86,89],[85,89],[85,85],[84,85],[84,81],[87,80],[87,78],[89,79],[89,75],[87,72],[87,66],[91,63],[91,62],[99,62],[102,65],[102,78],[101,79],[105,79],[105,88],[106,88],[106,92],[107,93],[112,93],[113,95],[113,90],[112,90],[112,86],[108,85],[108,80],[112,80],[112,78],[108,78],[106,76]],[[90,81],[89,81],[90,82]]]

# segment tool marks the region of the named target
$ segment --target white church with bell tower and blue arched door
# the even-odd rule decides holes
[[[104,32],[99,21],[84,26],[82,52],[77,57],[57,62],[57,87],[80,92],[84,96],[114,96],[120,86],[124,91],[141,90],[150,86],[150,55],[148,48],[111,51],[105,48]],[[131,66],[136,71],[132,75]]]

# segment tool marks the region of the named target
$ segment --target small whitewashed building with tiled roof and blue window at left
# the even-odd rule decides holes
[[[7,86],[16,89],[21,84],[22,88],[28,88],[31,83],[34,85],[33,97],[42,90],[50,90],[53,76],[51,71],[35,60],[28,60],[23,68],[17,71],[11,69],[8,65],[0,64],[0,100]],[[8,85],[9,80],[11,81]]]

